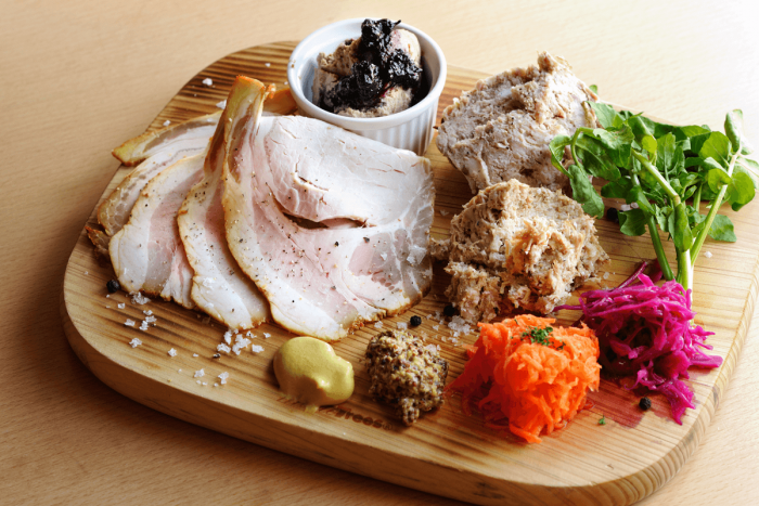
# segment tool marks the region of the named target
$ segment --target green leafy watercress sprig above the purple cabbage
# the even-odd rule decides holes
[[[630,210],[619,212],[620,231],[642,235],[647,230],[664,276],[692,288],[693,267],[706,236],[736,241],[730,218],[718,213],[720,206],[738,210],[759,187],[759,164],[745,156],[751,150],[743,134],[743,113],[729,113],[722,133],[660,124],[603,103],[589,105],[603,128],[578,128],[571,137],[554,138],[554,167],[569,178],[574,198],[589,215],[603,216],[602,196],[623,198]],[[606,180],[601,194],[593,177]],[[702,203],[709,209],[706,216],[700,213]],[[674,244],[677,276],[657,229]]]

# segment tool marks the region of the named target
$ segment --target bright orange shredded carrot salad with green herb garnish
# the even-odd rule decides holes
[[[478,324],[464,372],[447,390],[460,392],[462,408],[483,413],[486,426],[509,429],[539,443],[541,431],[563,428],[599,388],[599,341],[581,328],[552,326],[555,320],[530,314],[502,323]]]

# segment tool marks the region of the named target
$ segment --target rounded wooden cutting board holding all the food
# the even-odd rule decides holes
[[[167,119],[177,122],[218,111],[215,104],[227,98],[237,75],[283,85],[294,47],[294,42],[259,46],[214,63],[180,90],[149,130],[160,128]],[[458,67],[448,70],[438,118],[462,90],[485,77]],[[203,85],[205,78],[213,79],[213,86]],[[448,234],[450,219],[472,195],[463,176],[434,142],[426,156],[435,170],[437,190],[433,235],[442,237]],[[129,170],[118,169],[101,200]],[[697,447],[719,404],[757,295],[756,212],[755,204],[741,215],[729,212],[738,242],[707,242],[704,250],[712,257],[698,259],[696,322],[716,333],[709,342],[724,363],[719,369],[691,372],[696,408],[687,410],[683,425],[672,420],[662,398],[653,397],[653,408],[643,413],[636,407],[638,395],[604,380],[600,391],[590,395],[594,407],[578,414],[565,429],[544,437],[541,444],[526,444],[511,433],[485,429],[478,416],[461,413],[456,398],[406,428],[389,407],[368,394],[369,378],[361,356],[371,336],[381,332],[374,326],[335,346],[356,371],[356,391],[350,400],[307,413],[280,393],[271,365],[274,352],[291,334],[265,325],[254,330],[254,343],[265,349],[261,353],[252,353],[248,348],[239,356],[222,353],[214,359],[224,326],[173,303],[138,306],[123,291],[107,296],[105,283],[114,277],[113,269],[95,260],[83,230],[66,269],[61,312],[72,347],[92,373],[118,392],[183,420],[340,469],[479,504],[625,505],[672,478]],[[88,223],[97,224],[94,210]],[[654,258],[646,236],[627,237],[605,220],[596,226],[613,259],[601,286],[616,286],[641,259]],[[667,247],[669,258],[674,259],[671,244]],[[414,314],[422,316],[424,323],[415,332],[426,333],[429,342],[440,346],[441,355],[450,363],[450,381],[466,361],[462,342],[474,342],[476,335],[451,342],[445,323],[427,317],[446,306],[442,294],[449,281],[441,265],[436,265],[432,293],[411,311],[385,320],[384,328],[408,322]],[[146,310],[157,322],[142,332],[137,326]],[[569,324],[578,314],[564,312],[561,316],[561,323]],[[137,326],[125,326],[127,319]],[[129,341],[134,337],[142,345],[131,348]],[[178,352],[173,358],[167,353],[171,348]],[[205,376],[193,377],[200,369]],[[228,384],[215,386],[222,372],[229,373]],[[599,424],[602,417],[605,425]]]

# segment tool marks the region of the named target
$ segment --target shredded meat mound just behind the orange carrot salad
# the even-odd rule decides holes
[[[579,204],[515,180],[479,192],[432,249],[448,260],[446,295],[469,323],[515,309],[548,314],[608,262]]]

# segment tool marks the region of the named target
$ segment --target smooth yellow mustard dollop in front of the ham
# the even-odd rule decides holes
[[[339,404],[353,393],[353,366],[324,341],[295,337],[274,355],[280,389],[308,406]]]

